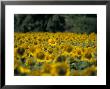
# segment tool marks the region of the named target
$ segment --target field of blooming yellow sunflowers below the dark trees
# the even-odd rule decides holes
[[[96,76],[97,34],[14,33],[14,75]]]

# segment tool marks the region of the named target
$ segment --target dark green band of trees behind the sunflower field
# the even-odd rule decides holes
[[[97,33],[96,14],[15,14],[15,32]]]

